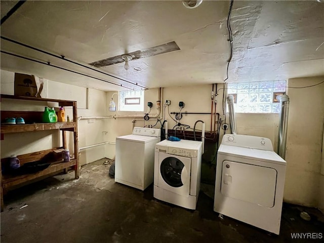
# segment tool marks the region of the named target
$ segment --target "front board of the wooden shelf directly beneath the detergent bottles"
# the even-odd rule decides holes
[[[76,125],[73,122],[1,125],[1,133],[5,134],[5,133],[45,131],[45,130],[53,130],[53,129],[75,129],[75,127]]]

